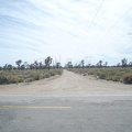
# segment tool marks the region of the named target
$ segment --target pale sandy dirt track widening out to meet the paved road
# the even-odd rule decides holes
[[[132,95],[132,85],[96,79],[64,70],[62,76],[0,86],[0,95],[40,96],[89,96],[89,95]]]

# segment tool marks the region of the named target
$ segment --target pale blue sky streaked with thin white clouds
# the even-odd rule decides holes
[[[0,65],[52,56],[132,62],[132,0],[0,0]],[[89,58],[90,59],[90,58]]]

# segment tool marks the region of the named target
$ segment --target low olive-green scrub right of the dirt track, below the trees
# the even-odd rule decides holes
[[[84,76],[91,75],[99,79],[132,84],[132,68],[130,67],[68,68],[68,70]]]

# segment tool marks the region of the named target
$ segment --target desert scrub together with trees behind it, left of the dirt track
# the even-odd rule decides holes
[[[56,63],[51,66],[53,58],[47,56],[43,62],[34,61],[29,64],[19,59],[15,62],[16,66],[6,64],[0,66],[0,85],[3,84],[18,84],[18,82],[31,82],[44,78],[50,78],[55,75],[62,75],[63,68],[61,63]]]

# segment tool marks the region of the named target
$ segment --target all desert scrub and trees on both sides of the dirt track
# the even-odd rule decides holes
[[[63,73],[61,62],[53,61],[51,56],[43,58],[42,62],[34,61],[32,64],[19,59],[15,62],[15,65],[6,64],[3,67],[0,66],[0,85],[30,82],[62,75]],[[84,76],[91,75],[99,79],[132,84],[132,62],[128,62],[127,58],[121,59],[114,66],[108,66],[108,62],[103,63],[102,61],[99,61],[96,65],[91,65],[88,58],[87,65],[85,65],[85,59],[81,59],[79,64],[73,65],[69,58],[65,68],[82,74]]]

